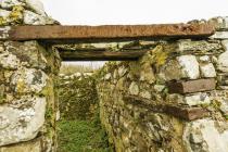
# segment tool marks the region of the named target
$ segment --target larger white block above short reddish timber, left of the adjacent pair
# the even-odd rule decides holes
[[[197,79],[200,77],[200,68],[198,60],[194,55],[182,55],[177,58],[181,68],[182,75],[189,79]]]

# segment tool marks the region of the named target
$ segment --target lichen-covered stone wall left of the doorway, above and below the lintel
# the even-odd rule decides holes
[[[0,0],[0,26],[56,22],[34,0]],[[60,56],[37,41],[0,41],[0,152],[55,151]]]

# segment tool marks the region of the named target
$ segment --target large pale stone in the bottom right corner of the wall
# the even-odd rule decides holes
[[[193,136],[193,137],[192,137]],[[199,119],[187,124],[183,141],[188,152],[227,152],[227,123],[212,119]]]

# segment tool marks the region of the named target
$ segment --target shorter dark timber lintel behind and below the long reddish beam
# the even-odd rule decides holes
[[[63,61],[134,61],[142,56],[147,51],[59,50],[59,52]]]

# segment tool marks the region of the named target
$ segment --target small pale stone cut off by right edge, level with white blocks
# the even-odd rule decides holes
[[[228,51],[221,53],[219,56],[218,56],[218,69],[221,71],[221,72],[225,72],[225,73],[228,73]]]

